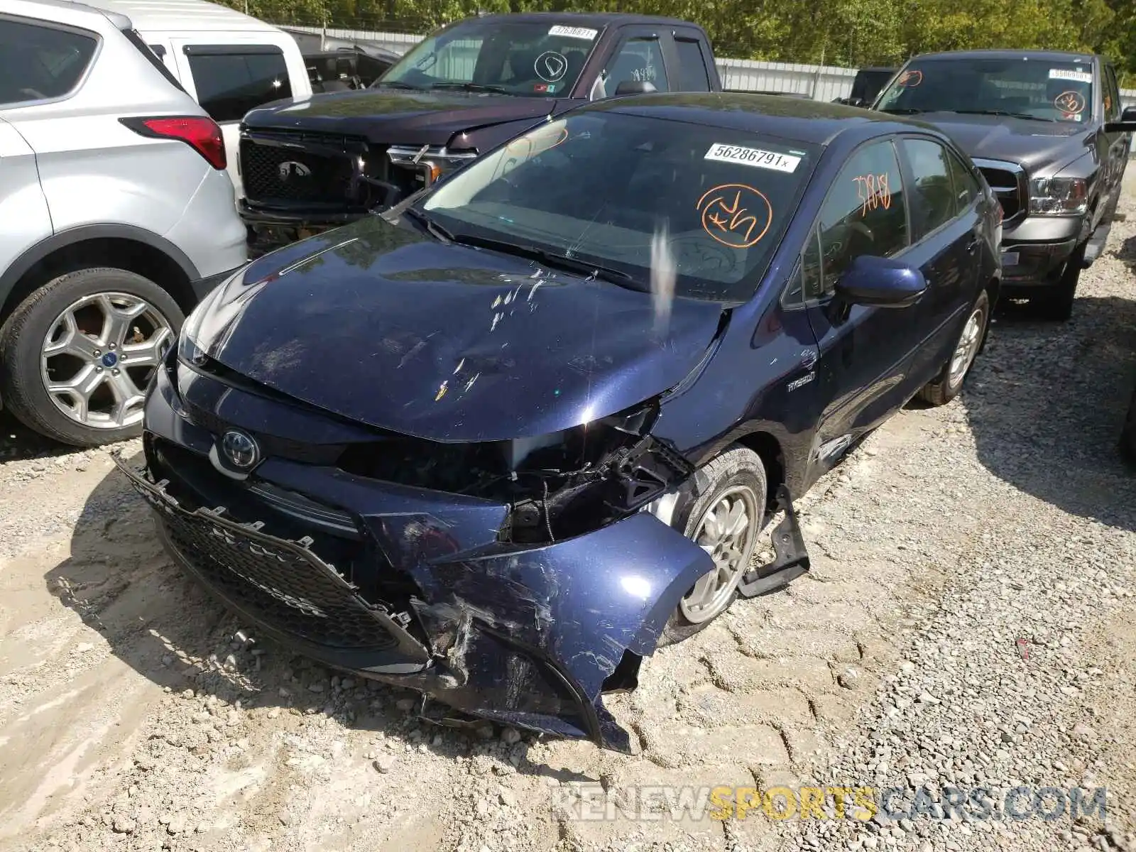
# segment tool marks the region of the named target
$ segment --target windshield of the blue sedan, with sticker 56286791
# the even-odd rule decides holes
[[[755,292],[819,152],[745,131],[588,111],[466,166],[416,212],[457,242],[602,270],[598,278],[637,290],[741,302]]]

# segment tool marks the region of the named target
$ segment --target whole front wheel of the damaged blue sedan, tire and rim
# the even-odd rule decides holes
[[[729,446],[684,486],[671,525],[707,552],[713,568],[691,586],[660,637],[680,642],[704,629],[737,598],[765,526],[766,468],[761,457]]]

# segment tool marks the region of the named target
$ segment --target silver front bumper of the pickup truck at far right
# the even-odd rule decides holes
[[[1088,239],[1084,217],[1030,216],[1002,234],[1002,283],[1036,289],[1058,283],[1077,247]]]

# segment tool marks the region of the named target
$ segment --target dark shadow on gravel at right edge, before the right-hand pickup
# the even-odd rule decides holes
[[[1129,250],[1136,262],[1136,241],[1119,253]],[[1136,531],[1136,476],[1118,451],[1134,386],[1136,301],[1079,296],[1068,323],[1010,303],[962,404],[992,474],[1071,515]]]

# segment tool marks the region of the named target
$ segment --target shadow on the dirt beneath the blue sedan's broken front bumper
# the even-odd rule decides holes
[[[141,452],[130,463],[141,465]],[[250,626],[169,560],[150,508],[117,469],[91,493],[75,523],[69,558],[44,582],[134,671],[170,693],[215,696],[222,715],[240,708],[269,726],[284,713],[324,715],[348,729],[382,732],[451,760],[494,754],[518,772],[583,778],[529,762],[535,740],[528,733],[519,742],[502,742],[503,732],[491,722],[468,730],[431,724],[418,713],[417,692],[335,673],[270,640],[258,641]],[[185,705],[186,715],[200,711],[199,701]]]

